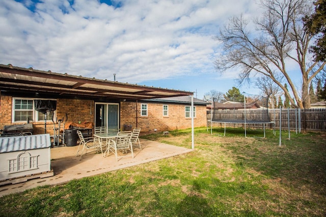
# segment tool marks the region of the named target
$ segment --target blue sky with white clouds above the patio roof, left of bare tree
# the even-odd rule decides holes
[[[214,69],[213,39],[254,0],[0,1],[0,64],[195,92],[227,92],[237,71]],[[243,86],[240,91],[258,94]]]

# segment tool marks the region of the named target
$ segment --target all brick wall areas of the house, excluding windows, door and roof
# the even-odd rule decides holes
[[[142,128],[142,134],[157,132],[180,130],[191,128],[191,118],[185,118],[185,105],[168,104],[168,103],[152,103],[146,102],[148,106],[148,116],[141,116],[141,104],[135,102],[121,102],[120,104],[120,128],[124,130],[124,125],[131,125],[132,128]],[[137,107],[136,107],[137,105]],[[163,116],[163,105],[168,105],[169,115]],[[196,118],[194,118],[195,127],[206,126],[206,106],[196,106]],[[57,119],[66,119],[68,122],[94,122],[94,101],[92,100],[73,100],[73,99],[57,99]],[[12,97],[0,96],[0,129],[5,125],[12,125]],[[47,133],[53,135],[53,122],[51,117],[47,118]],[[137,121],[137,123],[136,123]],[[63,127],[63,123],[61,123]],[[58,123],[56,122],[56,127]],[[33,122],[34,134],[44,133],[44,121]]]

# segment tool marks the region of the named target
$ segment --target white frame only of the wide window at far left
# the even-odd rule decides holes
[[[15,109],[15,102],[16,100],[32,100],[33,101],[33,109]],[[39,120],[39,112],[35,110],[35,104],[34,104],[34,100],[53,100],[53,99],[38,99],[38,98],[22,98],[22,97],[14,97],[12,98],[12,122],[13,123],[19,123],[19,122],[26,122],[26,120],[15,120],[15,111],[32,111],[33,110],[33,114],[32,114],[32,120],[30,120],[30,122],[40,122],[40,121],[44,121],[44,119],[40,119]],[[53,119],[56,119],[56,111],[53,111],[54,116]],[[48,115],[46,117],[46,122],[52,122],[52,115]]]

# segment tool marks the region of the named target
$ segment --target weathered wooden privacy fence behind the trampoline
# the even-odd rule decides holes
[[[264,109],[246,109],[247,119],[261,118]],[[281,113],[280,113],[281,111]],[[275,121],[275,128],[280,128],[280,115],[282,130],[290,131],[326,131],[326,108],[311,109],[268,109],[269,120]],[[217,110],[214,114],[219,119],[234,118],[244,119],[244,109]],[[207,120],[211,119],[211,111],[207,111]],[[221,123],[215,123],[221,125]],[[243,127],[243,123],[230,123],[232,127]],[[262,128],[262,125],[250,125],[250,128]],[[274,128],[273,124],[267,124],[267,128]]]

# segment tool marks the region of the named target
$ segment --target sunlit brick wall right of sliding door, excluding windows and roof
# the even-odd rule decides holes
[[[142,128],[142,134],[180,130],[191,128],[191,118],[185,118],[185,105],[168,104],[168,103],[151,103],[146,102],[148,116],[141,116],[141,104],[138,103],[136,111],[135,102],[122,102],[120,107],[120,127],[132,125]],[[168,105],[169,115],[163,116],[163,105]],[[194,127],[206,126],[206,105],[195,105],[196,118],[194,118]],[[137,118],[136,118],[137,114]],[[136,124],[137,119],[137,124]]]

